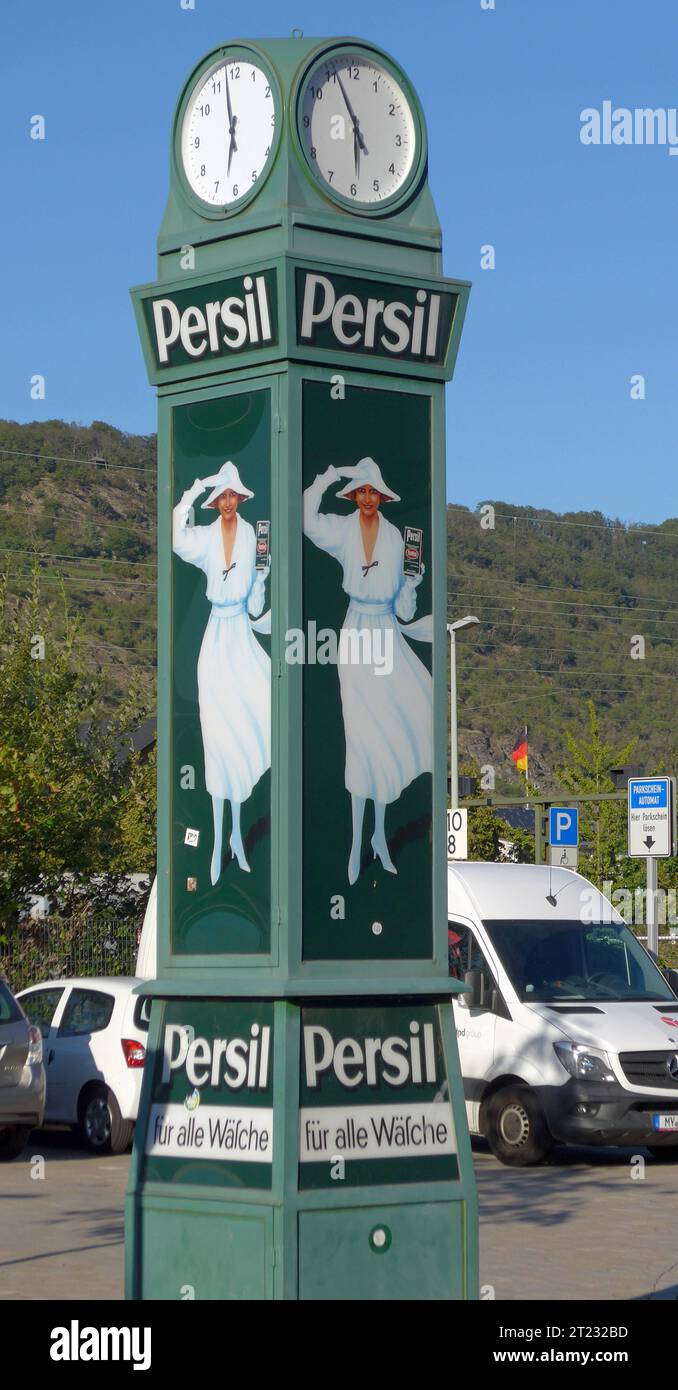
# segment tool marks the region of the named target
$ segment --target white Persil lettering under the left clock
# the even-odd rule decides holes
[[[214,292],[215,286],[210,288]],[[156,352],[163,367],[172,366],[172,356],[181,348],[199,361],[275,342],[267,277],[245,275],[224,288],[238,293],[185,307],[171,296],[151,302]]]

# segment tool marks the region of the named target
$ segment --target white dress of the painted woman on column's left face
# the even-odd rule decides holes
[[[221,517],[189,525],[193,498],[189,489],[174,509],[172,549],[204,571],[213,606],[197,659],[204,781],[210,796],[242,802],[271,766],[271,662],[249,617],[264,607],[265,578],[254,566],[254,527],[240,516],[225,573]]]

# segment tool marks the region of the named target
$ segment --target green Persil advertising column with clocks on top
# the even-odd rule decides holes
[[[446,171],[442,171],[445,177]],[[158,278],[158,979],[131,1298],[475,1298],[447,973],[442,275],[356,39],[179,97]]]

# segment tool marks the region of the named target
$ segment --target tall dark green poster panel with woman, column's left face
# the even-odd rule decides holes
[[[271,602],[270,577],[256,569],[254,549],[257,523],[271,521],[270,392],[243,391],[175,406],[172,455],[172,949],[176,955],[265,954],[271,941],[271,638],[251,623],[265,619]],[[235,491],[243,486],[254,493],[238,506],[228,566],[220,514],[204,509],[221,481],[233,482],[231,474],[218,486],[206,482],[226,460],[238,470]],[[193,525],[182,528],[182,498],[195,480],[206,485],[192,502]],[[264,610],[258,616],[251,612],[257,606]],[[238,841],[238,821],[240,856],[229,848],[232,837]]]

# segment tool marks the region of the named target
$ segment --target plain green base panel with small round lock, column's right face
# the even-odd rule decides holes
[[[465,1291],[463,1204],[299,1215],[299,1298],[450,1301]]]

